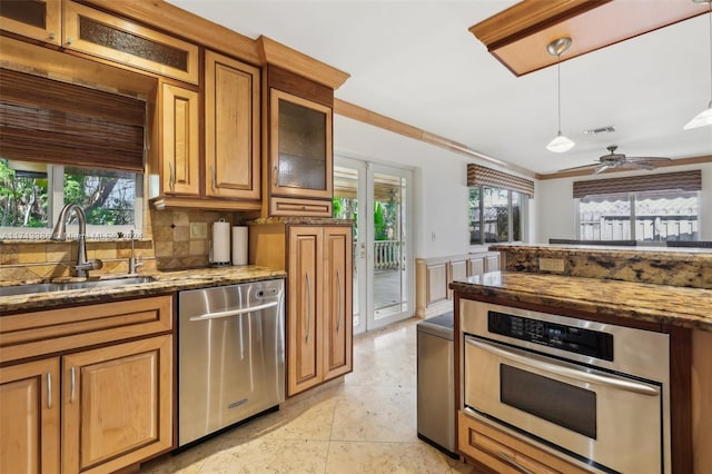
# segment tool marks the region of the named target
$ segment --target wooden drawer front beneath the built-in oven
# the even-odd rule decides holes
[[[523,441],[458,412],[459,452],[493,473],[584,474],[591,473],[565,460],[543,452]]]

